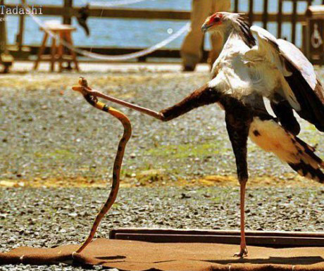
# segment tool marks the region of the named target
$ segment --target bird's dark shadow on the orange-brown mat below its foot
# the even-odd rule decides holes
[[[249,259],[237,258],[232,260],[201,260],[208,263],[218,263],[220,265],[228,265],[233,263],[252,263],[252,264],[282,264],[282,265],[315,265],[316,263],[324,263],[324,259],[320,256],[314,257],[269,257],[267,259]]]

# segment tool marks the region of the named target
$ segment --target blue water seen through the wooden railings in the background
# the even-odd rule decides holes
[[[113,0],[116,1],[116,0]],[[201,0],[204,1],[204,0]],[[75,0],[75,6],[83,6],[87,3],[91,5],[91,0]],[[108,0],[96,0],[103,5],[108,3]],[[269,12],[273,13],[278,10],[278,1],[269,1]],[[19,4],[19,0],[7,0],[6,4]],[[27,0],[27,4],[37,5],[63,5],[63,0]],[[313,4],[321,4],[321,0],[313,1]],[[118,6],[119,8],[150,8],[153,10],[169,9],[175,11],[190,11],[191,0],[146,0],[137,4],[130,4],[128,6]],[[254,1],[254,11],[262,12],[263,1]],[[285,13],[292,11],[292,1],[285,1],[283,3]],[[304,13],[306,10],[306,3],[298,3],[299,13]],[[240,12],[248,11],[248,1],[241,0],[239,4]],[[45,20],[61,20],[56,16],[39,16],[43,21]],[[39,31],[38,25],[26,16],[25,23],[25,44],[40,44],[43,33]],[[15,43],[15,36],[18,33],[18,16],[7,16],[8,42]],[[75,19],[73,25],[77,27],[77,32],[73,34],[74,42],[77,46],[110,46],[110,47],[134,47],[146,48],[154,45],[170,35],[170,32],[179,30],[187,21],[183,20],[132,20],[132,19],[110,19],[110,18],[89,18],[88,24],[91,31],[90,37],[85,35]],[[261,24],[259,24],[261,25]],[[170,31],[172,30],[172,31]],[[277,24],[269,23],[268,30],[273,34],[277,34]],[[289,23],[283,24],[282,34],[289,40],[291,36],[291,25]],[[184,35],[171,42],[166,46],[167,48],[179,49]],[[301,46],[301,25],[297,25],[297,46]],[[209,44],[207,42],[207,47]]]

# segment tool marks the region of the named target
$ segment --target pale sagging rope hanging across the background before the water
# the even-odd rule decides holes
[[[25,4],[23,4],[23,6],[25,7],[26,11],[30,11],[30,8],[28,6],[26,6]],[[86,51],[86,50],[82,50],[82,49],[77,49],[77,48],[71,46],[71,44],[66,42],[64,39],[61,39],[57,34],[52,32],[51,30],[49,30],[48,27],[46,27],[46,25],[44,25],[44,23],[42,23],[41,20],[39,20],[34,14],[32,14],[31,11],[29,13],[30,13],[29,15],[31,16],[32,20],[34,20],[35,23],[37,23],[37,25],[42,27],[42,29],[47,34],[49,34],[49,36],[56,39],[58,42],[61,42],[61,44],[63,44],[63,46],[66,46],[68,49],[75,51],[76,53],[79,53],[81,56],[86,56],[88,58],[94,58],[94,59],[98,59],[101,61],[125,61],[125,60],[129,60],[132,58],[139,58],[141,56],[146,56],[149,53],[152,53],[158,49],[161,49],[162,47],[166,46],[170,42],[173,42],[175,39],[177,39],[182,34],[187,32],[190,27],[190,23],[187,23],[185,26],[181,27],[180,30],[178,30],[174,34],[170,35],[170,37],[168,37],[168,38],[164,39],[163,41],[158,42],[158,44],[155,44],[155,45],[153,45],[147,49],[144,49],[142,51],[137,51],[135,53],[127,53],[127,54],[119,55],[119,56],[108,56],[108,55],[102,55],[99,53],[92,53],[90,51]]]

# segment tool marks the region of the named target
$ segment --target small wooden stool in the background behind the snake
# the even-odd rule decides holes
[[[42,42],[42,46],[40,46],[38,54],[37,54],[37,60],[35,61],[34,70],[37,70],[39,61],[51,61],[51,72],[54,72],[55,69],[55,63],[58,61],[59,63],[59,71],[61,72],[63,70],[62,63],[63,61],[73,61],[75,64],[75,70],[79,71],[79,65],[77,63],[77,57],[75,55],[75,51],[73,51],[73,42],[72,42],[72,35],[71,33],[76,30],[75,27],[72,27],[71,25],[61,25],[61,24],[55,24],[55,25],[46,25],[46,27],[40,27],[40,30],[44,31],[44,39]],[[47,39],[49,38],[49,34],[46,32],[46,30],[50,30],[51,32],[54,32],[58,37],[60,37],[58,46],[56,45],[56,39],[54,37],[51,37],[51,54],[49,56],[43,55]],[[62,40],[70,44],[71,48],[67,48],[68,54],[64,53],[64,46],[62,44]]]

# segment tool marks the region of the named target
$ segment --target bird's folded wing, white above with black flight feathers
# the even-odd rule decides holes
[[[251,31],[258,37],[258,51],[285,77],[289,87],[282,89],[289,105],[324,132],[324,91],[313,65],[294,44],[276,39],[261,27],[253,26]]]

